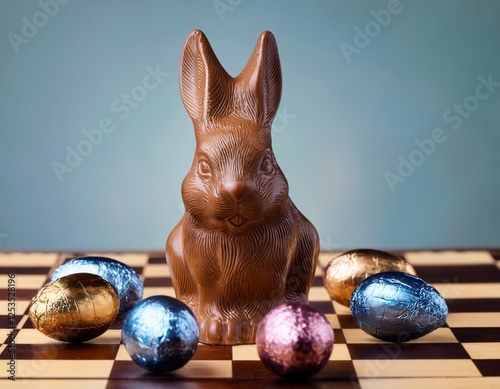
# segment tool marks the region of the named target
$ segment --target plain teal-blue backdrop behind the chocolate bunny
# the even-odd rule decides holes
[[[323,249],[499,247],[500,88],[459,126],[443,114],[478,77],[500,81],[500,2],[401,0],[377,30],[370,11],[394,1],[73,0],[55,12],[1,0],[0,250],[163,249],[194,151],[178,85],[194,29],[233,76],[274,33],[274,151]],[[16,53],[9,34],[23,18],[43,24],[45,3],[55,15]],[[365,27],[373,37],[349,62],[341,45]],[[126,117],[113,111],[148,66],[169,75]],[[105,118],[114,131],[58,180],[54,161]],[[435,128],[446,140],[391,188],[384,174]]]

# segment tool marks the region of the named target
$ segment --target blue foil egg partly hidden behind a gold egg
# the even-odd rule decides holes
[[[120,299],[120,310],[122,316],[130,310],[141,299],[144,285],[130,266],[106,257],[82,257],[75,258],[56,268],[50,280],[54,281],[62,276],[74,273],[92,273],[101,276],[113,285]]]

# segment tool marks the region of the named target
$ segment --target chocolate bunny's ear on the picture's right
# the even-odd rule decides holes
[[[236,77],[235,83],[236,88],[242,92],[241,97],[252,101],[252,104],[240,102],[239,105],[254,108],[254,120],[260,121],[264,127],[270,127],[278,111],[282,89],[278,46],[270,31],[264,31],[260,35],[250,59]]]

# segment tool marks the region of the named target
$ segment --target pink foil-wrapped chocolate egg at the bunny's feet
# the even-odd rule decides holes
[[[257,352],[264,365],[283,377],[320,371],[333,350],[332,326],[317,308],[286,303],[271,309],[257,327]]]

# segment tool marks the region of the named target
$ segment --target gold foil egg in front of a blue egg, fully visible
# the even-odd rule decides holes
[[[85,342],[116,319],[120,300],[104,278],[75,273],[46,284],[33,298],[29,316],[43,334],[64,342]]]

